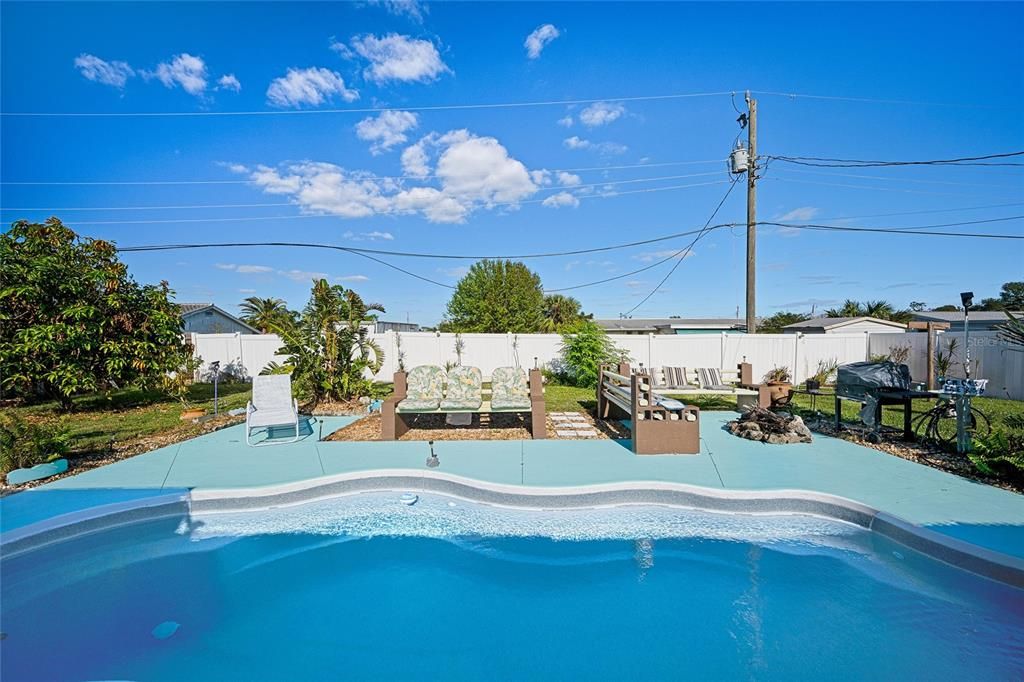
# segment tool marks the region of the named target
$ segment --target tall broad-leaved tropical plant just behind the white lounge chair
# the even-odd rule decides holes
[[[299,394],[314,403],[371,394],[368,374],[384,363],[384,351],[362,324],[371,310],[384,312],[384,306],[365,303],[354,291],[327,280],[313,281],[298,322],[271,327],[284,343],[278,354],[288,359],[267,366],[264,374],[289,372]]]

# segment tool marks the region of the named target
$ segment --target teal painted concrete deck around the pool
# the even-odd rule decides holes
[[[730,489],[837,495],[988,549],[1024,557],[1024,496],[838,438],[767,445],[723,429],[733,413],[700,416],[695,456],[636,456],[628,441],[442,440],[440,471],[481,481],[571,486],[670,481]],[[196,488],[257,487],[368,470],[425,469],[423,441],[322,442],[352,418],[317,418],[294,443],[249,447],[242,426],[216,431],[0,500],[7,530],[97,504]],[[278,434],[274,434],[275,437]],[[284,435],[284,434],[281,434]]]

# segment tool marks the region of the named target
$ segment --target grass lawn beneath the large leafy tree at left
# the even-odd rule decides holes
[[[218,390],[221,413],[245,408],[251,393],[248,383],[220,384]],[[188,399],[189,409],[204,409],[212,414],[213,384],[194,384]],[[28,419],[63,420],[73,436],[73,456],[105,452],[147,436],[195,427],[190,422],[181,421],[185,408],[180,402],[159,391],[136,388],[76,397],[71,413],[62,413],[56,402],[37,402],[9,410]]]

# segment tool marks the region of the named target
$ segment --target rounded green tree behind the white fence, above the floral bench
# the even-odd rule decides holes
[[[522,263],[480,260],[456,286],[445,332],[535,334],[544,328],[541,278]]]

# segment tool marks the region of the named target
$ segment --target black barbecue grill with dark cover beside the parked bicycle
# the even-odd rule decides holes
[[[836,430],[841,428],[842,400],[856,400],[862,406],[860,420],[870,428],[868,438],[877,442],[882,431],[883,406],[899,404],[903,407],[903,438],[912,440],[911,400],[934,397],[928,391],[912,388],[906,365],[889,361],[844,365],[836,378]]]

